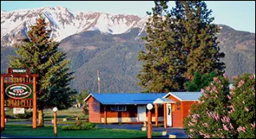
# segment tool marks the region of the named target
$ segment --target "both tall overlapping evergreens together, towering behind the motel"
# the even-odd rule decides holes
[[[184,83],[195,72],[201,75],[223,73],[220,61],[217,25],[205,2],[176,1],[170,14],[167,1],[155,1],[153,15],[147,22],[146,52],[139,53],[143,69],[138,83],[148,92],[184,91]]]

